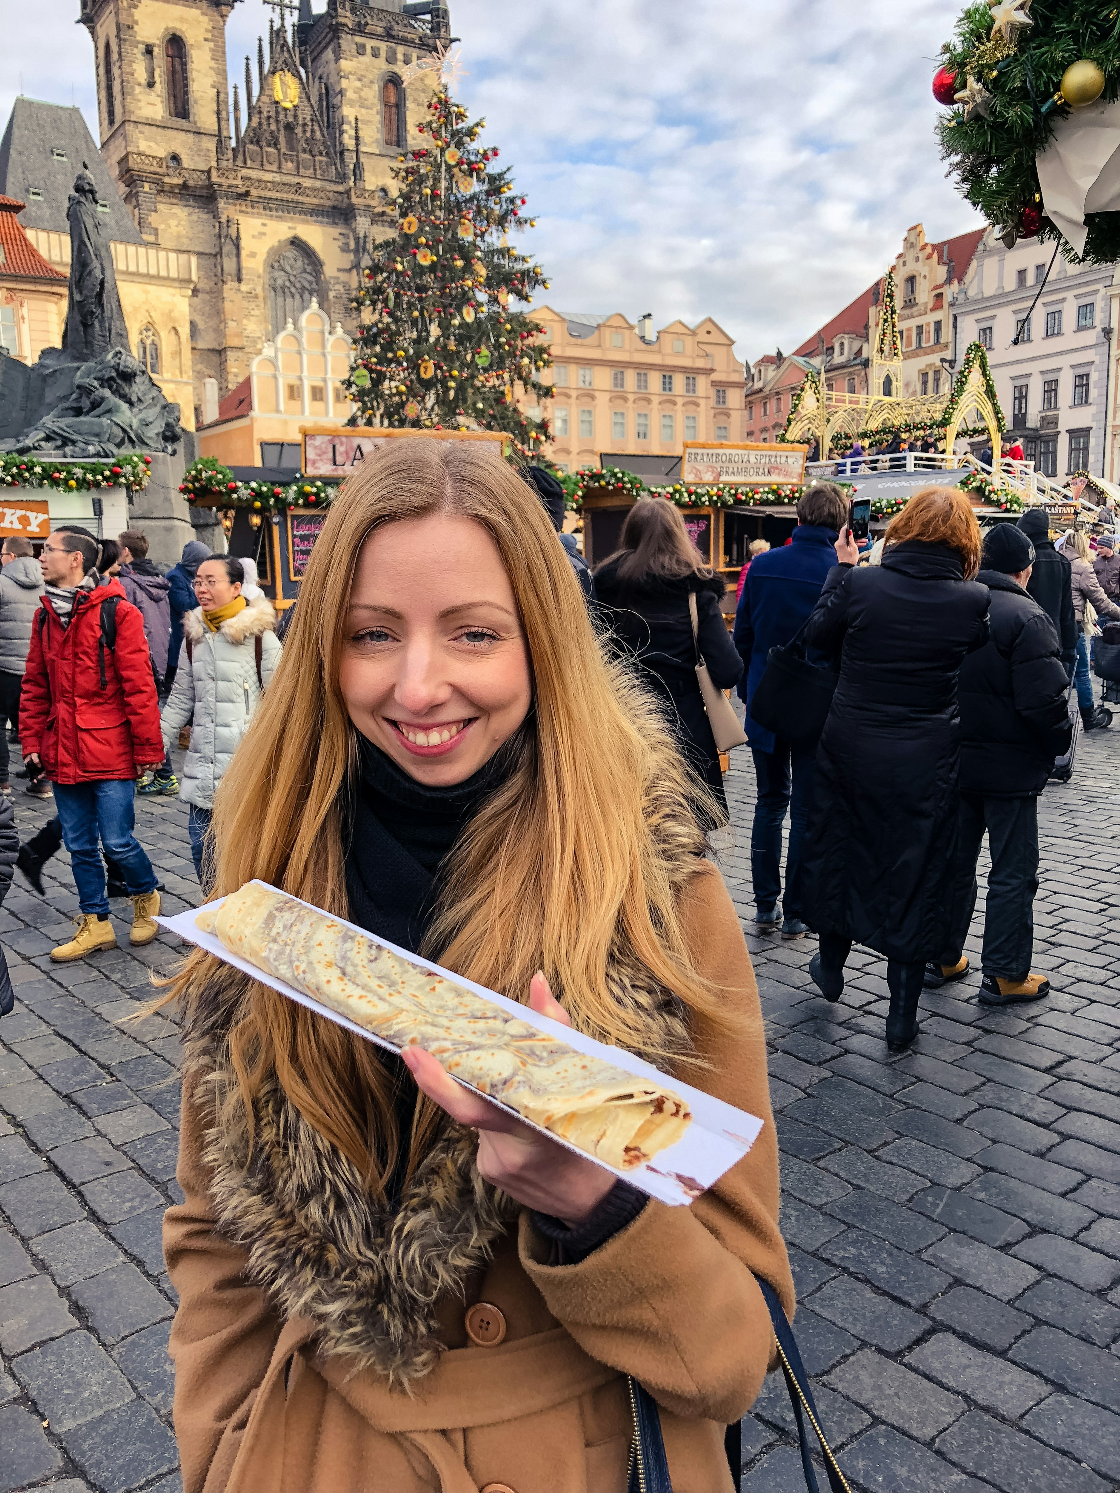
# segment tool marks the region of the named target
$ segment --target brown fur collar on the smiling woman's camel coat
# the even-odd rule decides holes
[[[648,820],[679,896],[706,844],[659,788],[678,772],[671,749],[668,742],[659,748],[665,761],[654,763]],[[668,1050],[690,1050],[679,1002],[629,948],[615,947],[609,984]],[[463,1297],[467,1277],[485,1268],[520,1205],[482,1181],[476,1135],[449,1121],[396,1212],[370,1202],[357,1168],[303,1120],[275,1078],[257,1103],[249,1145],[243,1111],[224,1103],[237,1084],[227,1042],[236,1006],[236,996],[208,994],[184,1021],[185,1069],[199,1076],[199,1102],[211,1115],[205,1162],[215,1227],[248,1251],[248,1277],[281,1320],[302,1315],[317,1324],[323,1356],[351,1357],[355,1369],[373,1368],[408,1388],[439,1357],[438,1303]],[[223,1109],[230,1118],[215,1123]]]

